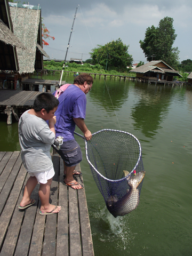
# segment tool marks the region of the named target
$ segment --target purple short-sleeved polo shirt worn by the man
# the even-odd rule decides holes
[[[55,95],[55,92],[53,93]],[[62,136],[63,141],[74,139],[74,118],[85,119],[86,95],[76,85],[71,84],[58,98],[59,106],[55,112],[57,122],[55,124],[56,137]]]

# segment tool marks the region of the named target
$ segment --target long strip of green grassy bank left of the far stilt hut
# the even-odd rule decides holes
[[[63,61],[55,62],[54,60],[43,61],[44,69],[48,69],[48,70],[62,70],[63,63],[64,63]],[[65,67],[65,71],[119,75],[119,76],[135,76],[135,73],[130,73],[128,70],[127,72],[118,72],[116,70],[105,70],[99,64],[90,65],[89,63],[84,63],[83,65],[79,65],[76,63],[67,63],[67,66]]]

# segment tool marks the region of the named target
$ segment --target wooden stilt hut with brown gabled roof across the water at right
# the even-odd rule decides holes
[[[174,70],[163,60],[154,60],[131,70],[135,72],[137,77],[145,80],[168,81],[172,82],[174,76],[180,76],[179,71]]]

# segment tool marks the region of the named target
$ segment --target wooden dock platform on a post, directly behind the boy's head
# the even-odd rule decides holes
[[[12,124],[12,114],[18,121],[20,115],[33,106],[39,93],[0,89],[0,113],[7,114],[7,124]]]

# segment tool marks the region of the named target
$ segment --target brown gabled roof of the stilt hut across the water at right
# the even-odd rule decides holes
[[[158,67],[159,63],[163,63],[165,67]],[[170,67],[169,65],[167,65],[164,61],[162,60],[154,60],[154,61],[150,61],[148,63],[146,63],[145,65],[142,65],[138,68],[134,68],[133,70],[131,70],[131,72],[135,72],[135,73],[147,73],[148,71],[153,71],[156,73],[162,73],[162,74],[167,74],[167,73],[171,73],[174,76],[181,76],[179,74],[179,71],[174,70],[172,67]],[[182,77],[182,76],[181,76]]]

